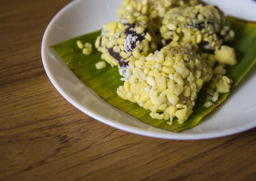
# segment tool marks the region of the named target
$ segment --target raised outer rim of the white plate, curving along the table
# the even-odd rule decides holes
[[[233,135],[233,134],[236,134],[236,133],[241,133],[241,132],[244,132],[246,130],[250,130],[250,129],[256,127],[256,122],[251,122],[249,124],[245,124],[245,125],[240,126],[240,127],[231,128],[231,129],[228,129],[228,130],[216,131],[214,133],[186,133],[186,134],[182,134],[182,132],[174,133],[174,132],[171,132],[171,131],[169,133],[158,133],[158,132],[154,132],[154,131],[151,131],[151,130],[145,130],[145,129],[142,129],[142,128],[139,128],[139,127],[133,127],[131,125],[124,124],[124,123],[121,123],[121,122],[114,122],[112,119],[107,119],[104,116],[101,116],[101,115],[99,115],[98,113],[96,113],[94,111],[87,110],[81,104],[77,103],[73,98],[71,98],[66,93],[65,89],[61,87],[59,82],[55,79],[55,76],[51,73],[51,71],[49,69],[49,64],[48,64],[48,61],[47,61],[47,56],[46,56],[46,54],[47,54],[47,43],[46,42],[47,42],[47,37],[50,34],[49,30],[52,27],[52,25],[54,25],[54,23],[58,19],[58,17],[60,17],[61,14],[64,11],[66,11],[71,6],[74,6],[79,1],[80,0],[73,0],[72,2],[70,2],[69,4],[64,6],[64,8],[62,8],[60,11],[58,11],[57,14],[55,14],[55,16],[52,18],[52,20],[47,25],[47,28],[44,31],[44,36],[43,36],[42,44],[41,44],[41,58],[42,58],[44,70],[46,71],[46,74],[47,74],[49,80],[52,82],[52,85],[57,89],[57,91],[61,94],[61,96],[63,96],[68,102],[70,102],[70,104],[72,104],[74,107],[79,109],[81,112],[83,112],[83,113],[87,114],[88,116],[92,117],[93,119],[96,119],[97,121],[102,122],[104,124],[107,124],[111,127],[115,127],[117,129],[129,132],[129,133],[134,133],[134,134],[137,134],[137,135],[141,135],[141,136],[148,136],[148,137],[160,138],[160,139],[173,139],[173,140],[213,139],[213,138],[219,138],[219,137],[224,137],[224,136],[230,136],[230,135]],[[109,106],[112,106],[112,105],[109,105]]]

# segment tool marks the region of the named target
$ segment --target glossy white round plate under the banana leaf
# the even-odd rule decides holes
[[[256,21],[253,0],[207,0],[227,14]],[[56,56],[51,45],[98,30],[103,23],[117,19],[119,0],[74,0],[61,9],[49,23],[42,41],[42,59],[50,81],[67,101],[82,112],[110,126],[163,139],[209,139],[239,133],[256,127],[256,74],[250,71],[228,99],[196,127],[172,133],[140,122],[117,110],[87,88]],[[255,70],[255,68],[254,68]]]

